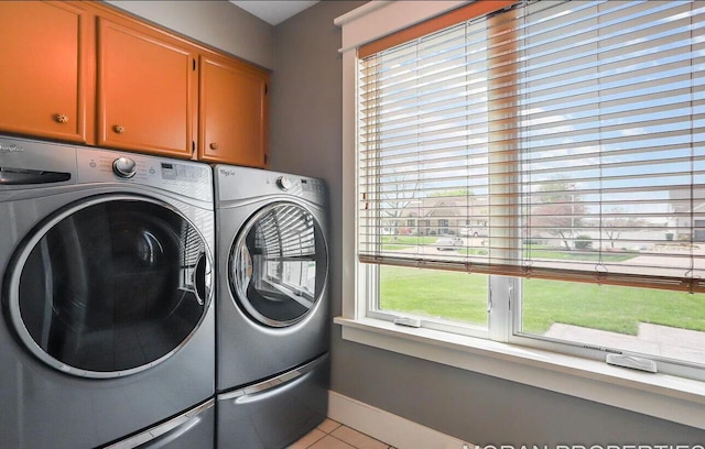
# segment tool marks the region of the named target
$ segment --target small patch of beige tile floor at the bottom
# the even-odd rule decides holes
[[[328,418],[286,449],[394,449]]]

